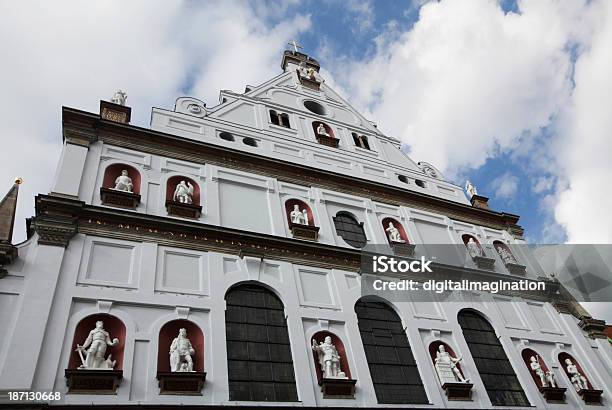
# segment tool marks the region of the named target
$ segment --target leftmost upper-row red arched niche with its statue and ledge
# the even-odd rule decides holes
[[[140,172],[127,164],[113,164],[104,170],[100,199],[105,205],[136,208],[140,203]]]

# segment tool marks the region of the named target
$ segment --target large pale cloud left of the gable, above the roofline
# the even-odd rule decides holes
[[[288,39],[308,16],[280,24],[248,3],[106,1],[13,3],[0,14],[2,152],[0,195],[22,176],[15,240],[33,198],[49,192],[61,147],[61,106],[96,112],[117,88],[128,92],[132,123],[148,126],[152,106],[173,107],[187,82],[217,102],[279,73]],[[274,17],[274,16],[271,16]]]

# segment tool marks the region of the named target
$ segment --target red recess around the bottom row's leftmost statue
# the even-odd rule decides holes
[[[98,320],[104,322],[104,330],[108,332],[111,340],[114,338],[119,339],[119,343],[117,343],[115,346],[108,346],[106,348],[105,358],[108,357],[109,354],[112,354],[112,360],[117,361],[117,364],[115,364],[115,370],[123,369],[123,352],[125,348],[126,336],[125,325],[117,317],[106,313],[98,313],[87,316],[77,325],[74,331],[72,345],[70,345],[70,360],[68,362],[69,369],[76,369],[82,364],[79,353],[76,352],[76,345],[83,345],[83,343],[85,343],[89,332],[96,327],[96,322]]]

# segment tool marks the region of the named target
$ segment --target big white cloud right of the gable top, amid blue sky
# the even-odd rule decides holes
[[[520,15],[492,1],[425,4],[345,87],[414,159],[451,175],[476,168],[537,134],[569,95],[575,3],[528,2]]]

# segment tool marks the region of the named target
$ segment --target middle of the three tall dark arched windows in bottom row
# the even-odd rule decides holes
[[[355,313],[379,403],[427,404],[427,394],[397,314],[385,303],[357,301]]]

